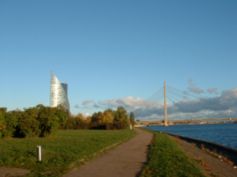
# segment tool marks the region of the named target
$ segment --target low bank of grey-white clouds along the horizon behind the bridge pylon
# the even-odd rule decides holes
[[[201,93],[200,91],[199,93]],[[213,89],[210,92],[216,94],[217,90]],[[82,110],[84,108],[104,110],[108,108],[116,109],[118,106],[123,106],[130,112],[133,111],[137,119],[163,118],[164,111],[161,103],[132,96],[99,102],[86,100],[80,105],[77,105],[77,108]],[[168,112],[169,117],[173,119],[237,117],[237,88],[223,91],[220,96],[215,97],[199,99],[184,98],[173,104],[169,104]]]

